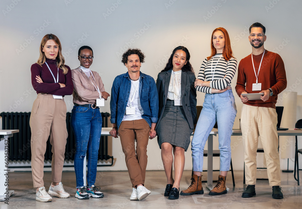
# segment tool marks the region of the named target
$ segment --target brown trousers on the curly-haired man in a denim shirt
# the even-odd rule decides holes
[[[149,124],[144,119],[122,121],[118,129],[132,187],[145,183],[149,133]]]

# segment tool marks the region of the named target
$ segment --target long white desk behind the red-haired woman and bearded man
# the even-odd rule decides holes
[[[209,190],[213,189],[213,136],[217,136],[218,129],[213,128],[208,137],[208,168],[207,168],[207,184]],[[232,136],[242,136],[240,129],[233,129]],[[302,130],[282,130],[278,131],[278,136],[302,136]]]

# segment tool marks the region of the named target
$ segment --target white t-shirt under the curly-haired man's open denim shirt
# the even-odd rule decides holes
[[[137,81],[131,80],[131,88],[130,88],[130,94],[129,94],[129,98],[128,98],[128,102],[127,102],[127,107],[130,107],[130,100],[132,99],[131,107],[135,107],[135,114],[126,115],[126,111],[125,111],[122,121],[134,121],[134,120],[142,119],[142,115],[144,114],[144,111],[142,109],[142,106],[140,106],[140,96],[139,96],[140,86],[139,85],[140,85],[140,79],[138,79]],[[137,87],[137,90],[135,91],[136,87]],[[133,96],[133,98],[132,98],[132,96]]]

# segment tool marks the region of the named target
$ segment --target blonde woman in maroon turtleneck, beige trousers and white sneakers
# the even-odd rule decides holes
[[[62,170],[65,159],[65,146],[68,136],[66,129],[66,104],[64,95],[71,95],[73,84],[70,68],[64,65],[62,46],[58,37],[47,34],[40,44],[40,57],[31,66],[31,83],[37,91],[37,99],[31,110],[31,170],[36,200],[50,202],[50,194],[59,198],[70,195],[64,190]],[[51,185],[48,193],[43,182],[44,154],[50,136]]]

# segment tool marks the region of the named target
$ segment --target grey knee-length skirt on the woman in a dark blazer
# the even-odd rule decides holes
[[[190,128],[182,106],[174,106],[174,100],[167,99],[162,119],[157,127],[157,141],[159,148],[162,143],[168,142],[187,151],[190,144]]]

